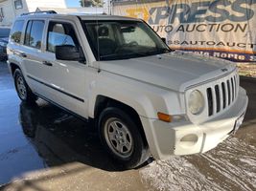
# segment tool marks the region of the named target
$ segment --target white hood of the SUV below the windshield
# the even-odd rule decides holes
[[[184,52],[100,62],[100,68],[107,72],[178,92],[229,74],[235,67],[226,60]]]

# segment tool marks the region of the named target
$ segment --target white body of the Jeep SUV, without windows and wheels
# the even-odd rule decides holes
[[[81,15],[80,18],[76,15],[38,14],[16,19],[24,20],[23,32],[29,20],[43,20],[45,23],[39,50],[12,41],[8,45],[10,70],[13,72],[13,66],[19,67],[36,95],[84,118],[96,117],[99,97],[126,104],[138,114],[154,159],[206,152],[240,125],[247,96],[239,86],[238,70],[234,64],[178,52],[122,61],[97,61],[81,20],[135,19],[102,15]],[[46,51],[47,28],[52,20],[70,23],[74,27],[85,63],[58,60],[55,53]],[[23,41],[24,34],[21,35]],[[49,67],[47,62],[52,66]],[[216,96],[216,86],[219,87],[219,97]],[[188,99],[194,90],[200,91],[204,98],[199,115],[191,114],[188,109]],[[211,100],[207,91],[211,91]],[[173,119],[171,122],[160,120],[158,113],[170,115]]]

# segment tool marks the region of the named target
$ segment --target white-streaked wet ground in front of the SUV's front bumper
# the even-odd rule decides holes
[[[228,138],[203,155],[153,161],[140,170],[149,190],[256,190],[256,149]]]

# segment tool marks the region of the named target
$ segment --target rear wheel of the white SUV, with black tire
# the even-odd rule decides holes
[[[37,97],[31,91],[21,71],[16,69],[13,74],[15,89],[19,98],[26,103],[35,103]],[[23,86],[21,88],[21,83]]]

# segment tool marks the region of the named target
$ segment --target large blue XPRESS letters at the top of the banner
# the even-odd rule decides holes
[[[244,6],[244,4],[246,6]],[[254,10],[250,7],[256,0],[215,0],[198,1],[191,4],[175,4],[171,7],[154,7],[149,13],[155,17],[148,20],[150,25],[158,25],[161,20],[168,19],[168,24],[175,23],[203,23],[203,22],[244,22],[253,18]],[[227,10],[231,8],[231,12]],[[206,15],[208,11],[208,16]],[[236,14],[238,13],[238,14]]]

